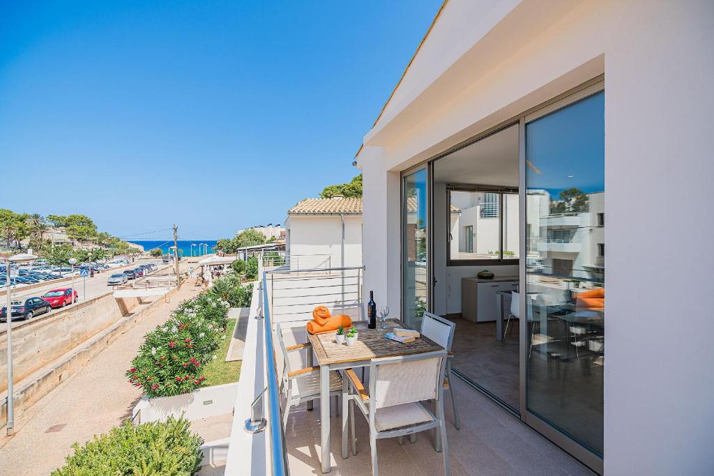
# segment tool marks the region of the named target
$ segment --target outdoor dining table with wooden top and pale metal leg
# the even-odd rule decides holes
[[[393,328],[408,328],[401,320],[387,319],[386,329],[378,325],[376,329],[368,329],[367,323],[360,321],[353,325],[358,331],[355,345],[338,344],[334,332],[309,334],[315,358],[320,365],[320,445],[322,448],[322,472],[330,472],[330,372],[348,368],[366,367],[372,359],[382,357],[398,357],[435,350],[443,350],[441,345],[421,336],[411,343],[399,343],[385,335]],[[308,353],[310,354],[310,353]],[[310,357],[311,358],[311,355]],[[311,365],[311,363],[308,363]]]

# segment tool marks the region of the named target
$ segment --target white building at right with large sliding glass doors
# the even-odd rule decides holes
[[[714,471],[714,320],[691,298],[714,263],[713,19],[696,0],[447,1],[357,155],[365,288],[412,325],[455,319],[458,343],[496,329],[460,319],[462,278],[513,277],[511,374],[478,375],[466,341],[453,366],[597,472]],[[678,189],[686,206],[648,199]]]

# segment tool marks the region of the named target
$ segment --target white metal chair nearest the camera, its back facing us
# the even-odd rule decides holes
[[[448,443],[443,407],[446,350],[374,359],[369,366],[369,393],[353,370],[346,370],[353,393],[343,384],[342,457],[347,457],[348,415],[358,407],[369,422],[372,474],[378,476],[377,440],[436,430],[434,448],[441,451],[444,474],[449,474]],[[424,402],[433,401],[433,411]],[[353,405],[350,405],[350,404]],[[351,410],[352,408],[352,410]],[[351,422],[352,453],[356,454],[355,425]]]

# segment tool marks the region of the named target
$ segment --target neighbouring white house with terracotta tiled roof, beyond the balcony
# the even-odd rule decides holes
[[[361,198],[307,198],[288,210],[285,228],[293,269],[362,265]]]

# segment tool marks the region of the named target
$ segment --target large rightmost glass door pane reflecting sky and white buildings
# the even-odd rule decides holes
[[[526,164],[528,410],[602,455],[604,93],[526,124]]]

